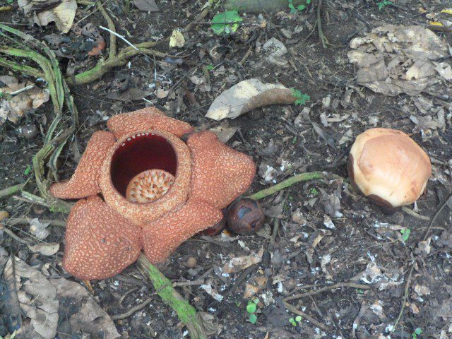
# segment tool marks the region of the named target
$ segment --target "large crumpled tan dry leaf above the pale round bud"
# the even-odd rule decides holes
[[[422,26],[384,25],[352,39],[350,47],[357,83],[376,93],[418,95],[451,76],[448,64],[434,64],[448,56],[446,42]]]

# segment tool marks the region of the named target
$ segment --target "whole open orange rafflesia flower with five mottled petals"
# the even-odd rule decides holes
[[[107,126],[93,133],[71,179],[50,188],[80,199],[69,213],[63,267],[81,279],[116,275],[141,249],[151,263],[165,261],[219,222],[256,172],[251,157],[215,134],[155,108],[118,114]]]

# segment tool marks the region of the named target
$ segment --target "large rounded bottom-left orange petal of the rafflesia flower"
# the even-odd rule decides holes
[[[140,231],[98,196],[81,199],[69,213],[63,267],[85,280],[117,275],[138,258]]]

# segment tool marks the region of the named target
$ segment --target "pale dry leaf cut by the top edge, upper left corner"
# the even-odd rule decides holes
[[[19,8],[23,8],[23,13],[28,17],[29,21],[40,26],[55,23],[61,32],[69,32],[73,19],[76,17],[77,1],[61,0],[57,6],[51,6],[51,8],[44,9],[44,11],[35,11],[36,7],[42,8],[46,2],[50,3],[50,1],[18,0],[18,5]]]

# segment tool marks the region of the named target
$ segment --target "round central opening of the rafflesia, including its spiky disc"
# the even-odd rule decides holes
[[[167,192],[176,169],[177,156],[167,139],[137,133],[117,148],[110,171],[119,194],[132,202],[147,203]]]

